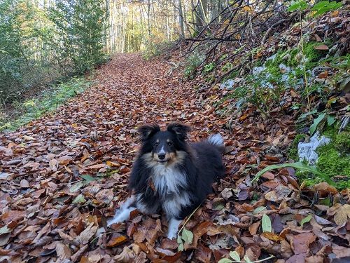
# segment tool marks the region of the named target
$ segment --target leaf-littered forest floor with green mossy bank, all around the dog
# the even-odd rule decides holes
[[[116,55],[82,93],[0,134],[0,259],[349,262],[349,13],[305,22],[296,8],[259,41],[216,46],[212,32],[148,60]],[[190,140],[223,135],[225,178],[176,240],[163,215],[106,227],[128,196],[137,126],[172,121]],[[295,147],[317,130],[332,142],[313,168]]]

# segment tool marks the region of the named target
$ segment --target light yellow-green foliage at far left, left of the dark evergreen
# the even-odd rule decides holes
[[[0,99],[3,102],[48,78],[50,61],[43,39],[49,38],[49,28],[50,23],[31,1],[1,1]],[[39,46],[41,53],[37,50]]]

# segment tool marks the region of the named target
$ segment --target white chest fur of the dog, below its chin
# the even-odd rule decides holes
[[[158,165],[153,167],[153,184],[163,199],[162,208],[168,217],[179,217],[181,209],[190,205],[188,192],[181,191],[187,187],[186,175],[174,166]]]

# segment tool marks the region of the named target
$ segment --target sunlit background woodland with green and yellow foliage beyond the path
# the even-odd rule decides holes
[[[3,0],[1,104],[92,69],[112,53],[193,36],[234,2],[243,1]]]

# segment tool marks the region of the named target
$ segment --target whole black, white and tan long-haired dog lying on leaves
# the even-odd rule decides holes
[[[158,213],[169,220],[168,238],[174,238],[181,220],[212,192],[224,175],[223,138],[216,134],[203,142],[187,143],[188,126],[172,123],[167,130],[139,128],[141,149],[134,162],[129,188],[133,195],[109,224],[126,220],[130,211]]]

